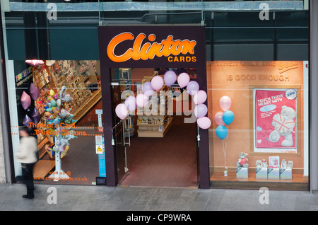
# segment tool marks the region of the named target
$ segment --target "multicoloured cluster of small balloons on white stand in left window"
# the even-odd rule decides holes
[[[74,135],[70,135],[72,132],[61,132],[61,124],[63,124],[63,129],[70,129],[71,124],[76,122],[73,120],[73,114],[71,114],[65,108],[65,103],[70,103],[73,98],[66,92],[66,87],[62,86],[59,93],[55,93],[53,90],[49,91],[49,96],[45,100],[45,124],[49,128],[49,133],[54,134],[54,146],[46,146],[47,151],[52,151],[55,153],[63,153],[62,156],[66,154],[69,150],[69,140],[76,138]]]

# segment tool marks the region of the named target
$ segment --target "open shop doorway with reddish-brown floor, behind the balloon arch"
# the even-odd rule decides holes
[[[124,79],[123,71],[129,71]],[[129,93],[136,96],[147,79],[158,75],[158,69],[112,69],[111,74],[114,118],[112,135],[118,184],[197,188],[197,128],[195,121],[187,122],[194,110],[191,96],[182,95],[180,88],[172,86],[172,112],[145,115],[145,110],[141,113],[137,109],[120,120],[115,113],[116,106],[123,103]],[[183,99],[182,96],[187,98]],[[167,99],[165,104],[167,107]]]

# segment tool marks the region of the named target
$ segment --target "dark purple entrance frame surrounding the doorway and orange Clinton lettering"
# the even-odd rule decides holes
[[[102,99],[104,115],[104,137],[106,154],[106,171],[107,185],[117,185],[116,172],[116,154],[114,146],[110,140],[112,139],[113,111],[112,106],[112,89],[110,80],[111,68],[197,68],[199,74],[196,81],[199,83],[200,89],[206,91],[206,53],[205,53],[205,29],[204,26],[173,26],[173,25],[153,25],[153,26],[102,26],[99,30],[100,43],[100,71],[102,77]],[[192,33],[188,33],[192,30]],[[156,41],[164,40],[168,35],[172,35],[178,40],[196,40],[195,53],[196,62],[168,62],[167,57],[155,57],[142,61],[127,60],[126,62],[112,62],[106,55],[107,45],[115,35],[123,32],[133,33],[136,37],[139,33],[146,35],[155,34]],[[131,42],[130,42],[131,44]],[[119,45],[120,46],[120,45]],[[126,50],[126,48],[124,48]],[[122,51],[124,52],[124,51]],[[206,103],[207,104],[207,103]],[[208,157],[208,130],[199,129],[200,144],[197,150],[199,188],[210,188],[209,175],[209,157]]]

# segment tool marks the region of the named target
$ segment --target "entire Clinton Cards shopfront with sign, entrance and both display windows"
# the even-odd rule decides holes
[[[95,60],[8,60],[12,176],[18,127],[34,124],[36,183],[308,190],[308,62],[211,46],[207,29],[100,26]],[[62,115],[64,145],[47,129]]]

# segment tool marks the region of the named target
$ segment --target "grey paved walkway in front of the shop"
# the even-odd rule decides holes
[[[50,191],[50,187],[56,192]],[[57,202],[49,204],[54,193]],[[24,185],[0,184],[0,210],[318,210],[318,192],[35,185],[33,200],[23,199],[22,195]],[[269,204],[261,204],[260,200],[269,200]]]

